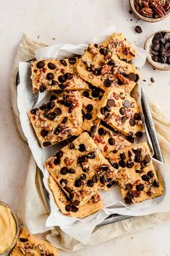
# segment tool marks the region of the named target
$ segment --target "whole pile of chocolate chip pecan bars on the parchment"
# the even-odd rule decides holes
[[[135,48],[121,33],[70,59],[32,63],[33,92],[50,91],[48,103],[28,116],[42,148],[67,145],[45,162],[61,212],[84,218],[102,208],[99,190],[119,184],[126,204],[162,195],[163,187],[142,136],[140,107],[130,95],[140,73]]]

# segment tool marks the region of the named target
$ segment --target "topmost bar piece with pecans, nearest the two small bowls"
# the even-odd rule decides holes
[[[99,51],[104,54],[110,51],[124,61],[131,61],[137,54],[135,47],[126,40],[122,33],[113,33],[98,47]]]

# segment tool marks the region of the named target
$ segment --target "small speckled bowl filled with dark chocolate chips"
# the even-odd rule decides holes
[[[158,31],[146,39],[147,61],[159,70],[170,70],[170,30]]]

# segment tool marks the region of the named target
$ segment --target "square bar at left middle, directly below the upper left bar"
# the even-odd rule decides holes
[[[32,109],[28,116],[42,148],[79,135],[83,124],[79,92]]]

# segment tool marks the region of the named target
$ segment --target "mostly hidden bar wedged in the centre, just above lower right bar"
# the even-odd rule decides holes
[[[99,124],[96,132],[94,132],[93,140],[101,150],[104,158],[109,158],[108,154],[110,152],[117,153],[117,150],[131,145],[128,140],[125,140],[122,136],[112,132],[110,129],[107,129],[107,127],[104,127],[102,124]]]

